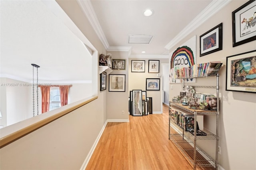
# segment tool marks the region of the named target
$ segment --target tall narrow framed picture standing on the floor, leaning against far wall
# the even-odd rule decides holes
[[[142,116],[142,90],[132,90],[132,115]]]

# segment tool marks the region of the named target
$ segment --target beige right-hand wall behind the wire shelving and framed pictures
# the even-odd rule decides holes
[[[240,46],[232,47],[232,11],[242,6],[246,1],[231,1],[217,14],[212,16],[186,38],[177,42],[170,52],[176,50],[180,44],[196,35],[196,62],[209,61],[223,62],[224,67],[220,69],[220,140],[221,154],[219,163],[225,170],[255,170],[256,169],[256,100],[255,94],[244,92],[226,91],[226,57],[256,49],[256,41],[248,42]],[[199,36],[223,23],[223,50],[199,57]],[[193,85],[216,84],[215,78],[198,78]],[[170,89],[170,100],[178,95],[182,89],[181,84],[172,84]],[[196,89],[197,92],[209,92],[205,89]],[[211,91],[210,91],[211,92]],[[215,91],[212,91],[215,93]],[[204,125],[214,132],[216,120],[212,116],[204,117]],[[215,142],[200,141],[200,146],[206,153],[214,156]],[[213,144],[213,145],[212,145]],[[210,147],[212,146],[212,147]]]

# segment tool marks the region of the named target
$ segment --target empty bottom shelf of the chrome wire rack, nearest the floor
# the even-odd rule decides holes
[[[182,134],[170,134],[170,140],[179,148],[185,158],[194,166],[194,143]],[[204,154],[206,157],[202,156]],[[215,161],[210,158],[201,148],[196,147],[196,166],[216,166]]]

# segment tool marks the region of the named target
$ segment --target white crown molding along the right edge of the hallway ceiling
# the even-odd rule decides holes
[[[177,36],[175,36],[164,48],[170,50],[177,42],[188,36],[192,31],[196,30],[206,20],[216,14],[220,9],[230,3],[231,0],[214,0],[212,1],[194,20],[192,20]]]

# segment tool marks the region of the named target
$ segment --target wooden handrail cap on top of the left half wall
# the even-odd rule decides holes
[[[92,102],[93,100],[96,100],[98,96],[92,96],[86,101],[83,101],[79,104],[76,104],[66,110],[63,110],[61,112],[58,112],[57,114],[54,114],[48,118],[45,118],[43,120],[40,120],[39,122],[36,122],[34,124],[31,124],[30,126],[26,126],[25,128],[22,128],[16,132],[13,132],[7,136],[4,136],[0,139],[0,148],[3,148],[4,146],[7,146],[8,144],[22,138],[23,136],[26,136],[27,134],[30,134],[31,132],[34,132],[35,130],[49,124],[50,122],[53,122],[54,120],[57,120],[58,118],[76,110],[77,108],[80,108],[81,106],[84,106],[85,104],[88,104],[89,102]]]

